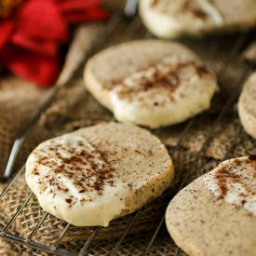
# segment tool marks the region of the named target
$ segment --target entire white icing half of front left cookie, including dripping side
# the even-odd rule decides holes
[[[26,165],[40,205],[74,225],[102,225],[125,209],[128,184],[115,177],[84,137],[64,135],[40,144]]]

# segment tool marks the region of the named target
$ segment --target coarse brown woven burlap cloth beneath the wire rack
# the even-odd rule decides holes
[[[89,28],[88,25],[84,26],[80,29],[80,33],[78,31],[78,34],[74,36],[74,44],[71,47],[71,52],[68,54],[59,83],[71,77],[86,48],[90,47],[91,44],[89,42],[92,42],[95,36],[100,36],[98,33],[100,30],[98,29],[101,29],[101,26],[99,24],[89,25]],[[105,40],[105,46],[138,38],[142,34],[145,34],[145,29],[141,25],[133,26],[128,31],[124,31],[125,28],[126,25],[119,24],[113,35]],[[122,31],[122,34],[120,34],[120,31]],[[118,249],[117,255],[141,254],[150,241],[156,225],[164,215],[168,201],[180,189],[181,182],[184,182],[182,183],[183,186],[195,180],[202,173],[209,171],[209,169],[216,166],[218,160],[222,159],[230,148],[232,148],[232,151],[228,157],[256,154],[255,140],[250,138],[243,129],[239,132],[239,140],[236,141],[236,144],[232,144],[234,137],[237,136],[237,132],[240,129],[239,120],[236,115],[236,104],[232,104],[219,122],[217,128],[213,128],[213,123],[220,112],[222,112],[223,105],[229,99],[231,92],[238,90],[237,82],[245,70],[248,69],[245,63],[239,58],[236,58],[236,61],[231,61],[231,63],[225,61],[231,48],[234,47],[237,38],[239,38],[238,35],[229,35],[200,40],[180,40],[188,47],[193,48],[207,62],[209,67],[219,74],[221,90],[215,99],[213,99],[210,110],[195,117],[194,125],[182,137],[180,146],[177,146],[177,143],[181,138],[183,128],[189,121],[174,127],[160,128],[152,131],[168,146],[169,154],[172,156],[175,165],[175,181],[173,182],[172,188],[164,195],[141,210],[139,218],[136,219],[128,236],[120,249]],[[16,79],[16,83],[13,83],[12,79]],[[10,105],[0,115],[1,138],[2,136],[5,138],[4,141],[0,141],[1,169],[5,166],[11,143],[17,134],[19,134],[20,127],[25,126],[27,121],[34,115],[34,111],[38,109],[38,106],[46,99],[48,93],[50,93],[50,91],[32,88],[31,86],[25,87],[24,85],[21,87],[20,83],[21,81],[17,78],[8,78],[0,86],[0,111]],[[9,87],[7,84],[9,84]],[[12,84],[16,84],[15,89],[11,88]],[[20,94],[17,93],[18,97],[15,96],[17,88],[20,91]],[[3,100],[5,94],[8,95],[9,100]],[[1,95],[3,95],[2,98]],[[15,106],[12,107],[13,105]],[[41,117],[38,125],[28,136],[21,150],[17,168],[24,164],[25,158],[38,142],[76,128],[110,120],[114,120],[113,115],[101,107],[88,94],[83,87],[81,74],[78,74],[71,80],[67,88],[61,90],[57,99]],[[212,137],[205,150],[203,150],[201,157],[197,159],[197,153],[200,151],[204,141],[208,138],[209,131]],[[10,220],[16,210],[19,209],[25,197],[29,194],[30,190],[25,184],[24,176],[21,174],[0,202],[0,229]],[[44,213],[44,210],[39,207],[36,198],[33,197],[25,209],[20,212],[19,217],[12,224],[9,232],[28,237]],[[109,227],[100,228],[89,248],[88,255],[108,255],[115,246],[116,238],[121,236],[126,229],[129,218],[130,216],[120,218],[113,221]],[[64,222],[61,222],[55,217],[47,216],[46,221],[34,235],[34,240],[46,245],[53,245],[61,234],[64,225]],[[93,228],[88,227],[71,227],[61,241],[61,248],[74,252],[79,251],[93,230]],[[165,228],[162,227],[150,250],[150,255],[174,255],[175,253],[185,255],[182,250],[177,249]],[[48,254],[1,239],[0,255]]]

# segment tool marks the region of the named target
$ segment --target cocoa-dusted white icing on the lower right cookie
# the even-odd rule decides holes
[[[239,157],[224,161],[204,177],[209,190],[256,216],[256,160]]]

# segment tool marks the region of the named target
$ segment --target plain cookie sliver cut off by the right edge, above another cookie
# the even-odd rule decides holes
[[[244,85],[238,101],[238,113],[245,130],[256,139],[256,72]]]

